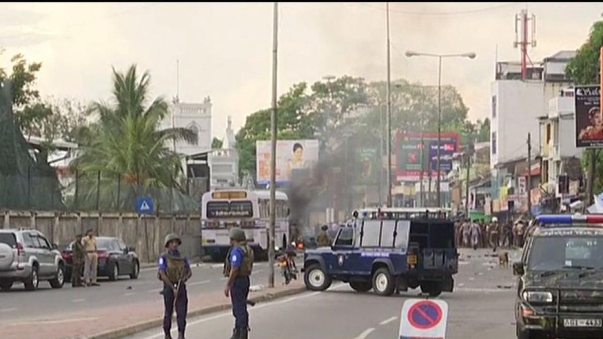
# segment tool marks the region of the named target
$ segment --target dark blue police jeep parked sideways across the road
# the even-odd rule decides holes
[[[355,211],[330,247],[306,250],[304,280],[313,291],[342,280],[359,292],[390,296],[421,287],[452,292],[458,272],[454,224],[447,209],[384,208]]]

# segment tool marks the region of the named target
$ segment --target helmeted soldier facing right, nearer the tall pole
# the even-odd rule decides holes
[[[247,339],[249,332],[247,296],[249,276],[253,270],[253,250],[247,245],[244,230],[239,227],[230,229],[229,236],[231,247],[224,262],[224,276],[228,277],[224,296],[230,296],[232,314],[235,317],[235,329],[230,339]]]

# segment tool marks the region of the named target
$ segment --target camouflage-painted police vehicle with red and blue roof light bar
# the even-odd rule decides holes
[[[603,215],[540,215],[513,264],[517,338],[603,338]]]

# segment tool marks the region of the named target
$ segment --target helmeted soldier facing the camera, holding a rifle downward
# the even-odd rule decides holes
[[[182,244],[180,237],[170,233],[165,237],[165,253],[159,256],[159,279],[163,282],[163,334],[165,339],[172,339],[172,314],[176,308],[178,323],[178,339],[185,339],[186,313],[188,312],[188,294],[186,281],[191,278],[191,265],[180,255],[178,247]]]

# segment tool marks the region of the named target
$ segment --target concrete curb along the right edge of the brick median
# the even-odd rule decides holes
[[[279,299],[282,297],[292,296],[294,294],[303,293],[306,291],[305,286],[291,288],[289,290],[278,291],[276,293],[267,293],[263,296],[252,297],[249,300],[252,302],[268,302],[270,300]],[[253,306],[251,306],[253,307]],[[200,315],[206,315],[210,313],[215,313],[219,311],[226,311],[227,309],[231,309],[232,305],[230,303],[223,303],[221,305],[206,307],[195,309],[193,311],[189,311],[186,315],[187,318],[198,317]],[[112,338],[122,338],[127,337],[128,335],[134,335],[138,332],[147,331],[148,329],[161,327],[163,325],[163,318],[156,318],[153,320],[145,320],[144,322],[135,323],[134,325],[124,326],[118,329],[112,329],[110,331],[102,332],[99,334],[89,335],[84,337],[85,339],[112,339]]]

